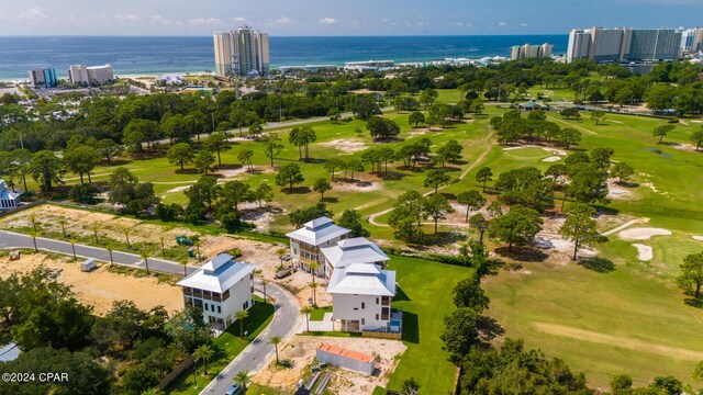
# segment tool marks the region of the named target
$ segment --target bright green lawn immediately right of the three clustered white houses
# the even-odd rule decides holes
[[[444,317],[454,311],[451,291],[472,269],[393,256],[390,270],[398,272],[399,294],[392,306],[403,312],[403,341],[408,350],[391,375],[389,390],[400,391],[415,377],[427,394],[454,391],[457,369],[447,361],[439,335]]]

